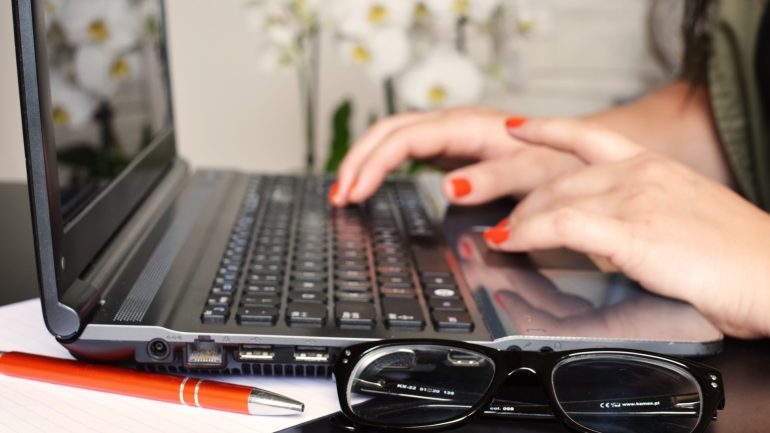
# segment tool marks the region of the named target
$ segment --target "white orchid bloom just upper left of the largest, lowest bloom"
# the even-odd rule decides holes
[[[364,37],[343,39],[340,51],[347,62],[363,66],[373,80],[382,81],[404,69],[411,44],[405,30],[384,28]]]

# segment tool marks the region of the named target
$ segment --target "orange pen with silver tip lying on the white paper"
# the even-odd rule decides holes
[[[110,365],[0,352],[0,373],[59,385],[247,415],[302,412],[305,405],[259,388]]]

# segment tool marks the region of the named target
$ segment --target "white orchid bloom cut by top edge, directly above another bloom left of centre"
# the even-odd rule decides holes
[[[363,37],[377,30],[406,29],[414,22],[414,0],[334,0],[332,17],[340,33]]]

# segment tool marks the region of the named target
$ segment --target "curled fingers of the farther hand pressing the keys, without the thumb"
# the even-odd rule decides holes
[[[345,184],[340,186],[338,204],[368,198],[387,174],[409,158],[436,156],[484,159],[512,152],[520,144],[501,128],[505,113],[482,109],[453,109],[416,117],[386,133],[372,133],[375,144],[362,144],[361,153],[351,155],[344,165]],[[349,162],[348,162],[349,161]],[[351,179],[348,179],[350,177]],[[358,181],[356,188],[345,190]]]

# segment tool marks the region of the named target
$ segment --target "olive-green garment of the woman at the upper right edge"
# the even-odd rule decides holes
[[[708,87],[717,132],[740,192],[770,210],[770,143],[756,76],[757,35],[768,0],[718,0]],[[770,79],[770,77],[767,77]]]

